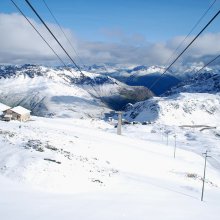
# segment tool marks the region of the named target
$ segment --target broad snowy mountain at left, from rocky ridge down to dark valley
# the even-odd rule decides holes
[[[0,66],[0,101],[22,105],[34,115],[100,117],[152,93],[109,76],[36,65]]]

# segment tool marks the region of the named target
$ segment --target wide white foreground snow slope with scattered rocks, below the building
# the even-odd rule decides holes
[[[128,126],[117,136],[94,119],[0,121],[1,217],[217,220],[219,170],[208,164],[202,203],[201,155],[173,159],[154,125]]]

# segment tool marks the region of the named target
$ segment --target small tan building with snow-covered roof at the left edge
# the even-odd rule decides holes
[[[17,106],[11,109],[7,109],[3,111],[4,113],[4,120],[18,120],[18,121],[27,121],[30,119],[31,111],[23,108],[21,106]]]

